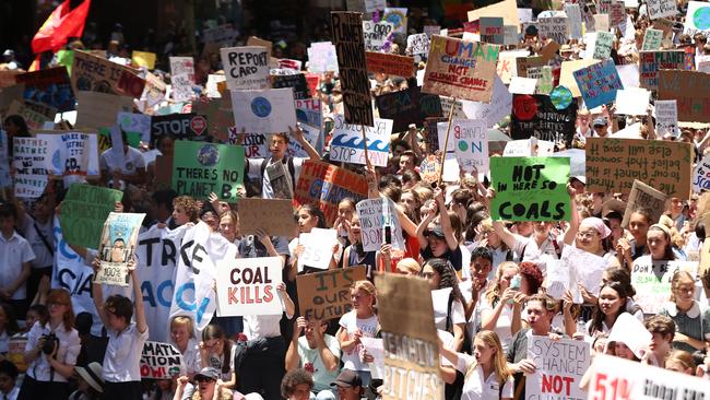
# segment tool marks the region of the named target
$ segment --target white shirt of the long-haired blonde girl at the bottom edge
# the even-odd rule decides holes
[[[483,367],[476,366],[475,370],[468,374],[469,368],[476,361],[469,354],[459,354],[457,369],[461,372],[465,379],[463,381],[463,391],[461,392],[461,400],[489,400],[499,398],[512,398],[513,378],[509,376],[500,390],[498,378],[495,373],[488,375],[487,378],[483,376]]]

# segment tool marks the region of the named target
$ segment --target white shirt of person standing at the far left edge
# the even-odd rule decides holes
[[[16,232],[12,233],[10,239],[0,234],[0,287],[8,287],[13,284],[22,273],[22,264],[35,259],[32,246]],[[26,282],[20,285],[12,299],[24,299],[27,297]]]

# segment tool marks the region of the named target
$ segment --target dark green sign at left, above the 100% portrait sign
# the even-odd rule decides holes
[[[74,246],[97,249],[104,222],[122,197],[120,190],[80,184],[70,186],[59,215],[64,240]]]

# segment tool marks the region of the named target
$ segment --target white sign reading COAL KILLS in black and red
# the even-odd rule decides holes
[[[281,257],[217,261],[217,315],[281,315]]]

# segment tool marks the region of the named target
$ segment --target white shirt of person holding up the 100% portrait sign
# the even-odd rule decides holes
[[[141,353],[147,340],[149,329],[138,331],[135,323],[131,323],[123,331],[118,332],[106,328],[108,345],[104,356],[103,377],[113,384],[141,380]]]

